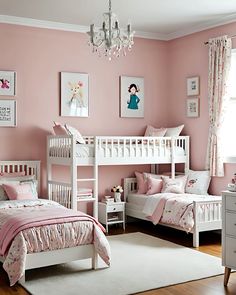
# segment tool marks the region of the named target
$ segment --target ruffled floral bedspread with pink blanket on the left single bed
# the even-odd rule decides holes
[[[0,203],[0,252],[10,284],[24,274],[26,254],[93,243],[107,265],[110,247],[91,216],[48,200]]]

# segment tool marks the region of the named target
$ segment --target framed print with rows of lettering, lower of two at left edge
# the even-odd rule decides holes
[[[0,99],[0,127],[16,127],[16,100]]]

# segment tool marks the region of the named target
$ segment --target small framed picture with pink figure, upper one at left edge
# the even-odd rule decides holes
[[[0,71],[0,95],[16,95],[16,72]]]

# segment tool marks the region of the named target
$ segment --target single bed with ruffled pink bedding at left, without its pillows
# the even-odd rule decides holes
[[[40,162],[0,161],[0,173],[19,172],[39,182]],[[110,248],[100,224],[50,200],[1,201],[0,235],[0,261],[10,285],[23,282],[27,269],[88,258],[96,268],[98,255],[109,265]]]

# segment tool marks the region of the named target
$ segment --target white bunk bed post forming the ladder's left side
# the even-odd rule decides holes
[[[71,208],[73,210],[78,210],[77,208],[77,166],[76,166],[76,140],[75,137],[72,135],[70,137],[71,140],[71,165],[70,165],[70,177],[71,177],[71,198],[72,204]]]

